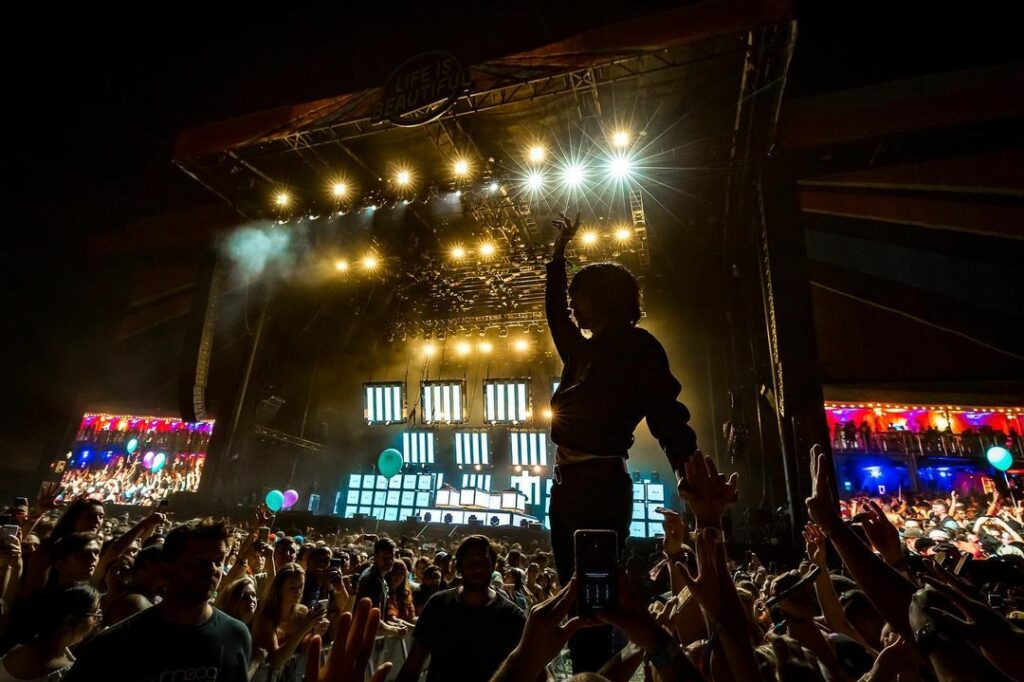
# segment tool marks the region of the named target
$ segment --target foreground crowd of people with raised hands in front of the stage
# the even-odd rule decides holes
[[[536,542],[19,505],[0,542],[0,681],[557,679],[569,638],[608,624],[620,650],[574,679],[1024,679],[1021,505],[840,501],[825,456],[812,466],[806,553],[779,571],[727,555],[735,477],[691,458],[695,528],[665,510],[658,551],[632,546],[617,604],[591,616]]]

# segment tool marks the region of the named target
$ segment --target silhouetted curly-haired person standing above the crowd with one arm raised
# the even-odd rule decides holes
[[[696,435],[688,425],[689,411],[676,399],[681,387],[665,349],[637,327],[636,278],[616,263],[595,263],[580,269],[569,285],[565,247],[580,227],[580,216],[571,221],[563,215],[554,225],[558,237],[548,263],[545,303],[563,369],[551,398],[551,439],[557,449],[549,515],[555,564],[565,585],[574,569],[577,529],[614,530],[622,553],[633,512],[626,459],[640,420],[647,419],[677,478],[696,451]],[[610,628],[580,631],[569,649],[577,673],[599,670],[613,652]]]

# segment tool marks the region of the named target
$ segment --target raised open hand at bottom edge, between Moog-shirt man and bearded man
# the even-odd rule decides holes
[[[321,638],[313,637],[310,641],[303,682],[364,682],[380,621],[380,610],[373,608],[369,599],[361,599],[352,613],[342,613],[324,666],[321,666]],[[384,682],[390,670],[391,664],[382,664],[370,682]]]

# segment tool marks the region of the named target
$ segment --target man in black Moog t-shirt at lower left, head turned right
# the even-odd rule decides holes
[[[227,535],[223,523],[210,519],[172,530],[162,556],[164,600],[84,646],[66,682],[247,682],[249,630],[210,605]]]

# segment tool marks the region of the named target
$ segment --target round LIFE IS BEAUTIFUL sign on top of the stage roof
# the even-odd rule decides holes
[[[436,121],[466,87],[462,65],[447,52],[423,52],[391,73],[374,108],[373,121],[421,126]]]

